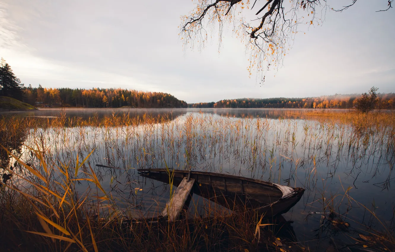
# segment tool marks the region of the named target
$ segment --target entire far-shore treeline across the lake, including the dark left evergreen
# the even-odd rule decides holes
[[[335,94],[310,98],[242,98],[187,104],[171,94],[143,92],[122,88],[43,88],[24,87],[11,67],[1,58],[0,96],[8,96],[33,106],[44,107],[142,107],[142,108],[357,108],[363,113],[372,109],[393,109],[395,93]]]

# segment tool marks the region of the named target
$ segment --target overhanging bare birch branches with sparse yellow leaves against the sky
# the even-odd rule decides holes
[[[391,8],[393,0],[381,0]],[[355,4],[349,0],[340,9],[328,6],[325,0],[197,0],[196,7],[182,17],[180,37],[184,48],[203,48],[210,30],[218,29],[219,41],[225,25],[233,26],[233,32],[250,52],[248,71],[254,69],[264,73],[269,68],[277,68],[290,49],[297,34],[299,24],[320,25],[321,10],[329,7],[333,11],[343,11]],[[348,3],[348,4],[347,4]],[[243,10],[248,10],[247,15]],[[252,12],[252,13],[251,13]],[[248,17],[248,14],[255,14]]]

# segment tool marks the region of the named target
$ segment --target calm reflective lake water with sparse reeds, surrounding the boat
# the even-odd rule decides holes
[[[52,165],[75,167],[77,156],[81,162],[92,152],[79,176],[84,176],[88,164],[94,168],[125,215],[158,214],[169,199],[169,185],[140,177],[137,169],[169,167],[305,188],[301,200],[283,214],[293,222],[301,242],[326,235],[322,213],[329,211],[328,205],[348,218],[354,229],[381,228],[367,209],[394,228],[391,127],[361,131],[352,123],[316,120],[303,113],[298,109],[42,109],[15,116],[62,118],[67,125],[62,128],[27,129],[21,144],[38,143]],[[93,123],[103,118],[109,122]],[[138,123],[130,123],[133,120]],[[25,147],[20,152],[25,162],[37,162]],[[87,187],[81,182],[78,190],[83,194]],[[191,209],[204,213],[204,200],[194,196],[194,203],[200,207]]]

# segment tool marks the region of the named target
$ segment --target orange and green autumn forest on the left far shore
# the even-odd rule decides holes
[[[162,92],[143,92],[122,88],[23,88],[23,102],[50,107],[188,107],[184,101]]]

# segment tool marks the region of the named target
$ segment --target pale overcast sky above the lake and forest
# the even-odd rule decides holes
[[[26,86],[160,91],[188,103],[395,92],[395,8],[375,12],[386,5],[359,0],[327,11],[322,26],[299,27],[306,34],[263,86],[230,31],[220,54],[216,39],[182,50],[180,16],[194,8],[185,0],[0,0],[0,57]]]

